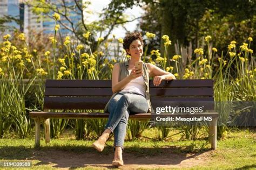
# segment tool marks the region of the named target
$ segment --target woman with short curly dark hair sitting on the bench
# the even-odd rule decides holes
[[[142,61],[143,39],[140,33],[126,34],[123,47],[131,59],[116,63],[112,71],[113,95],[106,104],[105,112],[110,112],[105,131],[93,147],[103,151],[107,138],[114,132],[114,159],[113,165],[124,165],[122,151],[126,135],[126,125],[129,114],[151,112],[149,95],[149,77],[154,77],[154,86],[159,86],[162,80],[172,80],[175,76],[152,65],[143,63],[143,69],[136,69],[135,62]]]

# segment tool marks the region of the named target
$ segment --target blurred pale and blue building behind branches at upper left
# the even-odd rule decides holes
[[[84,0],[83,0],[84,1]],[[18,29],[25,34],[29,33],[29,30],[42,32],[45,34],[54,33],[55,20],[47,16],[39,16],[32,12],[32,7],[25,4],[26,0],[0,0],[0,17],[9,16],[16,20],[5,25],[10,27],[10,30]],[[60,7],[59,0],[46,1],[48,3],[57,4],[57,8]],[[66,6],[68,9],[69,19],[73,23],[73,27],[77,29],[77,25],[81,22],[82,17],[78,15],[78,8],[74,1],[66,0]],[[82,0],[80,1],[82,3]],[[43,15],[43,14],[42,14]],[[52,13],[50,13],[52,15]],[[64,17],[61,17],[62,23],[67,27],[72,28],[71,23]],[[6,32],[10,32],[6,30]],[[60,33],[72,34],[71,31],[60,25]]]

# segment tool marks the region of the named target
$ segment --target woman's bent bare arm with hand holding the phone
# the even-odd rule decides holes
[[[142,70],[133,69],[131,74],[125,77],[122,81],[118,82],[119,76],[119,63],[114,64],[113,72],[112,72],[112,91],[116,93],[121,91],[126,84],[128,84],[132,79],[139,77],[142,75]]]

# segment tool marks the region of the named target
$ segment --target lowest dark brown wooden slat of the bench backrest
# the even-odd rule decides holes
[[[44,109],[104,109],[110,97],[44,97]],[[213,97],[151,97],[153,108],[166,105],[205,105],[213,108]]]

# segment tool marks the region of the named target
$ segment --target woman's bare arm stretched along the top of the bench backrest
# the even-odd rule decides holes
[[[160,69],[159,67],[147,63],[147,67],[150,70],[150,77],[154,77],[153,84],[154,86],[159,86],[162,80],[173,80],[176,79],[172,73],[166,72],[165,70]]]

